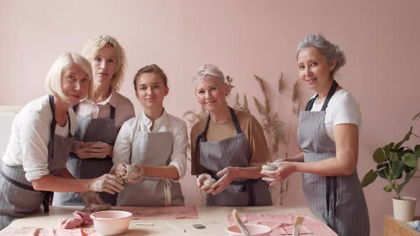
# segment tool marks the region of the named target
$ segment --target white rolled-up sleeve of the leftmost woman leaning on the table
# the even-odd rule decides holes
[[[45,127],[37,114],[28,114],[19,122],[22,165],[25,177],[33,181],[50,173],[48,171],[49,127]]]

